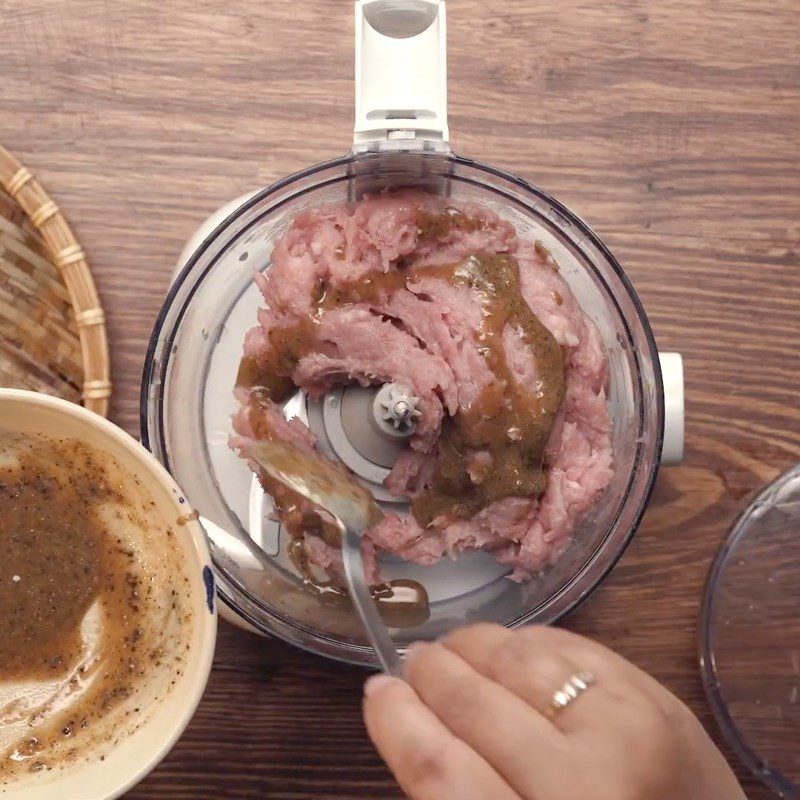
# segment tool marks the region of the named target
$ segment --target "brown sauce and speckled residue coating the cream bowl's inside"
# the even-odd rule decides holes
[[[0,787],[103,752],[182,672],[188,578],[137,483],[79,440],[0,430]]]

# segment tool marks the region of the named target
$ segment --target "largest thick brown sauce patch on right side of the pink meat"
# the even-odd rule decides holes
[[[437,517],[469,519],[504,497],[535,497],[544,491],[544,451],[564,400],[561,348],[522,297],[516,259],[478,254],[456,267],[453,280],[481,298],[481,355],[499,380],[469,408],[445,419],[433,482],[411,503],[423,526]],[[535,354],[535,386],[519,386],[511,374],[503,349],[506,326],[517,330]],[[467,472],[468,456],[475,451],[488,452],[492,459],[480,483],[473,483]]]

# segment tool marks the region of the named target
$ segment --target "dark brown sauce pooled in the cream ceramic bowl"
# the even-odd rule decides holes
[[[109,559],[91,503],[113,494],[91,469],[64,481],[23,456],[0,469],[0,679],[61,674],[80,654],[80,625]],[[121,574],[125,574],[122,566]]]

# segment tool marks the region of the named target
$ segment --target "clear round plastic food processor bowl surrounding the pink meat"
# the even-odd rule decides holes
[[[608,351],[616,472],[559,562],[517,584],[485,553],[388,571],[421,579],[427,622],[394,631],[402,648],[469,622],[549,623],[585,598],[612,568],[644,512],[661,454],[664,397],[653,334],[614,257],[567,208],[512,175],[450,154],[373,152],[312,167],[270,186],[231,214],[176,279],[153,331],[141,394],[142,439],[182,486],[209,533],[223,602],[257,630],[326,656],[374,664],[347,604],[303,586],[278,539],[254,545],[252,476],[227,447],[245,331],[261,297],[254,269],[302,211],[390,186],[415,185],[494,209],[521,237],[541,240]],[[299,409],[295,408],[295,411]],[[259,539],[261,532],[254,532]]]

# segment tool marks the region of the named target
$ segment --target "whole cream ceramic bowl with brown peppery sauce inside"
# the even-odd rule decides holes
[[[197,515],[149,453],[0,389],[0,800],[111,800],[166,755],[216,638]]]

